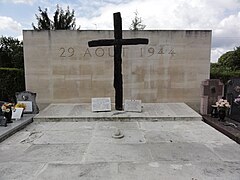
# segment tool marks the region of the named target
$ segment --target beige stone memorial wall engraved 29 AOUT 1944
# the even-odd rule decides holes
[[[123,46],[124,99],[200,105],[200,84],[209,78],[210,30],[123,31],[148,45]],[[113,31],[23,31],[26,89],[38,103],[91,103],[111,97],[113,47],[89,48]]]

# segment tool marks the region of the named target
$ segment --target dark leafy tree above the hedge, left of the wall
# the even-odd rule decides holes
[[[12,37],[0,38],[0,67],[24,69],[22,41]]]

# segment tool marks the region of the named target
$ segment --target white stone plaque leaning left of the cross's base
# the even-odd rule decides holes
[[[92,111],[111,111],[111,98],[92,98]]]

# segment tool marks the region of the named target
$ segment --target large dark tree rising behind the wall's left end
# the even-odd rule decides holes
[[[36,15],[36,19],[38,21],[38,26],[36,27],[32,23],[34,30],[76,29],[74,10],[70,12],[69,7],[67,7],[67,10],[64,12],[63,9],[57,5],[57,10],[55,11],[53,16],[53,21],[48,17],[47,9],[43,11],[39,7],[39,15]]]

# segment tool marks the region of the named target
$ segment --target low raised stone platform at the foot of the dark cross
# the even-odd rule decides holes
[[[185,103],[142,103],[142,112],[92,112],[91,104],[50,104],[34,121],[192,121],[202,120]]]

